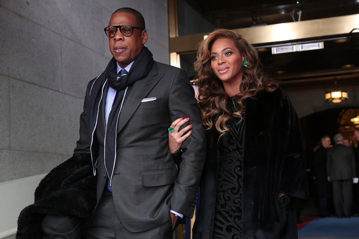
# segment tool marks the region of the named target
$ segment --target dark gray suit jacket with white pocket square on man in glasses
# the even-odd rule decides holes
[[[192,86],[183,70],[155,62],[149,74],[129,90],[117,125],[112,192],[123,225],[129,231],[142,232],[171,220],[170,210],[192,217],[206,152],[205,135]],[[104,81],[89,83],[75,149],[75,154],[92,154],[98,201],[107,180],[103,138],[98,138],[105,126],[103,101],[96,108],[99,114],[87,106],[98,94],[106,99],[106,92]],[[189,117],[193,124],[192,135],[182,144],[180,172],[169,152],[167,129],[179,117]]]

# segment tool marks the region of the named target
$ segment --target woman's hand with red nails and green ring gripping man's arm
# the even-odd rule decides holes
[[[175,154],[179,151],[182,142],[191,135],[192,124],[189,124],[179,130],[179,128],[186,122],[188,122],[189,118],[179,118],[172,122],[171,127],[174,129],[173,132],[169,131],[169,148],[172,154]]]

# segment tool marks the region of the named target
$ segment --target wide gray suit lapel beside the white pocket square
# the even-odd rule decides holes
[[[145,78],[136,81],[135,84],[131,86],[129,94],[125,96],[125,102],[120,112],[119,121],[117,122],[117,133],[119,133],[128,120],[131,119],[141,104],[141,101],[156,86],[163,75],[164,74],[158,75],[156,67],[154,67]]]

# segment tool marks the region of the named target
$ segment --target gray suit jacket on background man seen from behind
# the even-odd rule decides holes
[[[341,143],[327,150],[327,172],[331,181],[352,180],[356,172],[354,151]]]

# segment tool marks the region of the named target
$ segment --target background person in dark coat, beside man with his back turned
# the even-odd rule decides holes
[[[328,135],[321,138],[321,146],[314,152],[313,177],[316,181],[316,197],[320,217],[330,216],[328,210],[328,198],[331,194],[331,184],[328,182],[327,173],[327,149],[331,147],[331,139]]]

